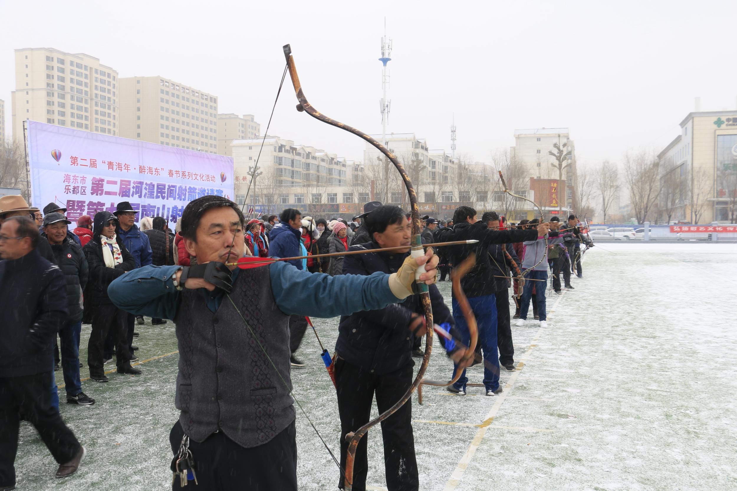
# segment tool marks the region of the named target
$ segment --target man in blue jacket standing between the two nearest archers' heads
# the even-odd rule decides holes
[[[270,257],[298,257],[302,256],[302,215],[298,209],[284,209],[279,215],[279,223],[272,227],[269,232],[269,256]],[[287,261],[297,269],[304,268],[302,260]],[[289,318],[290,347],[292,366],[304,366],[294,354],[302,344],[304,333],[307,332],[307,318],[304,316],[290,316]]]

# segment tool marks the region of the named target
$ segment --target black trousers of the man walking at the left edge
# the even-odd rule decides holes
[[[0,377],[0,488],[15,484],[18,452],[18,414],[31,423],[58,464],[66,464],[80,450],[80,442],[52,408],[54,372],[24,377]]]

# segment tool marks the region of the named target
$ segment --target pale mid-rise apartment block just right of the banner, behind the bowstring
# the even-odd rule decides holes
[[[237,203],[248,202],[257,214],[297,208],[304,214],[350,218],[370,201],[363,182],[354,183],[348,175],[349,171],[360,173],[361,164],[335,153],[279,136],[234,140],[231,147]]]

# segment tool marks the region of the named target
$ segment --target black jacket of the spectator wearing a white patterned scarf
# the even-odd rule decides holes
[[[108,268],[105,266],[105,258],[102,257],[102,245],[100,245],[99,234],[102,231],[102,223],[106,223],[113,217],[112,213],[105,212],[106,215],[101,215],[102,212],[98,212],[94,216],[93,226],[93,239],[90,240],[87,245],[83,248],[85,258],[87,259],[87,265],[89,267],[89,307],[94,308],[100,304],[111,304],[110,297],[108,297],[108,286],[110,286],[113,279],[125,273],[125,271],[133,271],[136,269],[136,261],[133,260],[133,256],[130,255],[128,249],[125,248],[123,240],[116,235],[116,240],[120,247],[120,253],[123,257],[123,262],[115,265],[115,268]],[[145,237],[145,236],[144,236]]]

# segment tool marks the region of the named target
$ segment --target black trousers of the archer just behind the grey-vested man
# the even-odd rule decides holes
[[[383,413],[402,397],[412,385],[412,365],[385,375],[373,375],[367,369],[352,365],[343,358],[335,360],[335,385],[338,389],[340,412],[340,467],[345,468],[348,455],[346,434],[356,431],[368,422],[371,403],[376,394],[379,412]],[[419,489],[419,473],[415,458],[412,433],[412,400],[381,422],[384,440],[384,467],[389,491]],[[368,433],[358,442],[353,467],[353,490],[366,490]],[[344,489],[341,473],[338,487]]]

